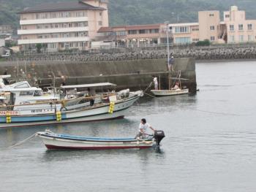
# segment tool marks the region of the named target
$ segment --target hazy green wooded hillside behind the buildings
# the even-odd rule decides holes
[[[59,0],[72,1],[72,0]],[[78,1],[78,0],[73,0]],[[53,2],[52,0],[0,0],[0,25],[18,27],[18,14],[24,7]],[[110,25],[132,25],[176,22],[195,22],[197,12],[206,9],[227,10],[231,5],[245,9],[247,18],[256,19],[255,0],[110,0]]]

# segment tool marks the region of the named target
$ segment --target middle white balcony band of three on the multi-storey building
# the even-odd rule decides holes
[[[18,30],[19,35],[23,34],[54,34],[67,32],[89,31],[89,27],[72,27],[72,28],[42,28],[42,29],[27,29]]]

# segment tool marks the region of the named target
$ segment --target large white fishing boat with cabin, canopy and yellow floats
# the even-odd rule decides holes
[[[114,86],[103,82],[63,88],[100,87],[104,91],[110,85]],[[31,87],[28,82],[7,85],[0,89],[0,93],[4,95],[4,104],[0,106],[0,128],[124,118],[124,110],[143,96],[142,91],[126,90],[60,99],[59,94],[43,93],[42,89]]]

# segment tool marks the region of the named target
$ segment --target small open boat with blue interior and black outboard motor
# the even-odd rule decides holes
[[[48,150],[110,150],[110,149],[145,149],[159,146],[165,137],[164,131],[155,131],[146,139],[140,138],[105,138],[81,137],[69,134],[55,134],[52,131],[37,132]]]

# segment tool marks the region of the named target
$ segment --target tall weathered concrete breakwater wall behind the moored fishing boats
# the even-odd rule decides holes
[[[165,58],[136,59],[126,61],[7,61],[0,63],[0,72],[8,69],[12,77],[17,77],[20,70],[27,77],[35,76],[40,84],[50,83],[49,72],[56,75],[56,85],[61,84],[61,75],[67,77],[66,84],[94,82],[113,82],[118,89],[131,88],[144,90],[152,81],[152,75],[160,77],[162,88],[167,88],[167,63]],[[177,58],[174,64],[176,72],[181,71],[182,85],[196,91],[195,59]],[[173,72],[172,77],[176,77]],[[28,75],[29,74],[29,75]],[[21,73],[22,75],[22,73]],[[24,74],[23,74],[24,75]],[[26,75],[25,75],[26,78]]]

